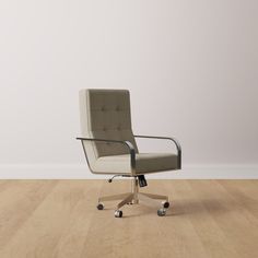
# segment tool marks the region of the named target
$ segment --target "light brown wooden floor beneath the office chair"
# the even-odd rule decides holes
[[[149,180],[168,195],[157,207],[116,202],[96,210],[99,195],[128,191],[129,180],[0,180],[0,257],[258,257],[258,180]]]

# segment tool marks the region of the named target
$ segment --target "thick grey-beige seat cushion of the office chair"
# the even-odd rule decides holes
[[[92,169],[103,174],[130,174],[130,154],[101,156]],[[137,174],[177,169],[177,155],[172,153],[137,153]]]

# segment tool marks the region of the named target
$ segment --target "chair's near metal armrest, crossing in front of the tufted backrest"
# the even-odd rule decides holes
[[[83,137],[78,137],[77,140],[81,140],[81,142],[82,142],[83,151],[84,151],[89,166],[90,166],[90,163],[87,160],[86,150],[85,150],[83,141],[110,142],[110,143],[118,143],[118,144],[126,145],[129,150],[129,153],[130,153],[131,173],[132,173],[132,175],[136,175],[136,149],[130,141],[119,141],[119,140],[109,140],[109,139],[97,139],[97,138],[83,138]]]

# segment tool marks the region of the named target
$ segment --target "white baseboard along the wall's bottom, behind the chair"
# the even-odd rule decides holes
[[[106,179],[80,164],[0,164],[0,179]],[[181,171],[148,175],[150,179],[258,179],[258,164],[186,165]]]

